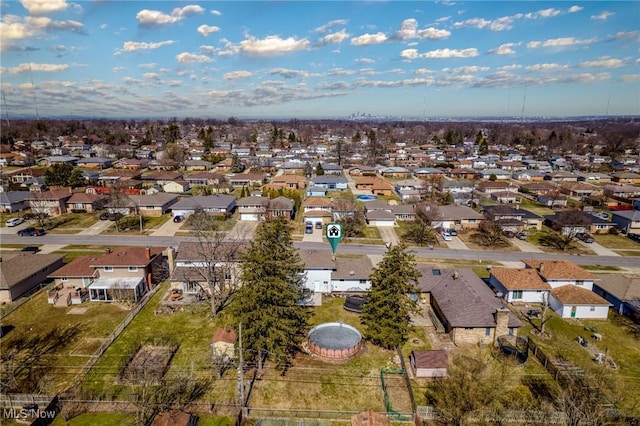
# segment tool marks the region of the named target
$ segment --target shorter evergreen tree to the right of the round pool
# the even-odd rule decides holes
[[[417,293],[420,272],[404,245],[391,246],[371,273],[371,290],[362,308],[365,337],[386,349],[406,342],[409,314],[415,309],[409,295]]]

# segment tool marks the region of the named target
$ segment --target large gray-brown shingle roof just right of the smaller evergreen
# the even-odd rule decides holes
[[[500,299],[473,272],[472,269],[418,268],[422,276],[418,288],[431,293],[451,327],[495,327],[496,310]],[[513,314],[509,327],[521,327],[522,322]]]

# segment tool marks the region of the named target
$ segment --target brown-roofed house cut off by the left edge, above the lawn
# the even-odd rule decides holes
[[[11,303],[38,289],[60,268],[63,254],[3,253],[0,256],[0,303]]]

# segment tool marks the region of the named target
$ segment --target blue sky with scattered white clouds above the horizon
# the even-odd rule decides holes
[[[3,119],[640,114],[637,1],[0,8]]]

